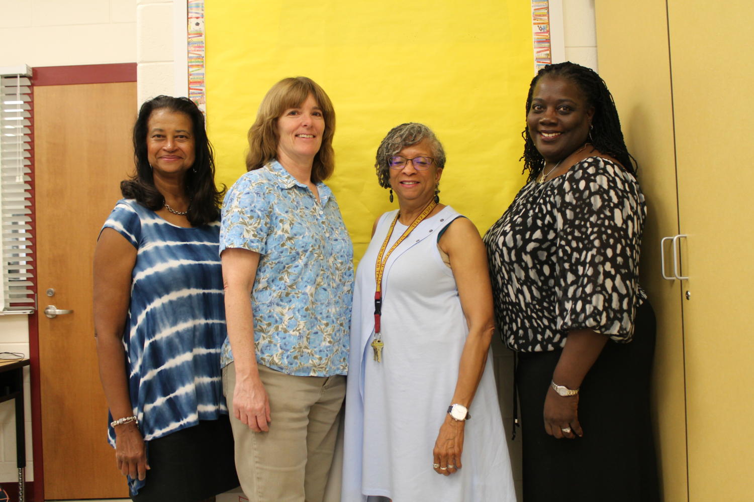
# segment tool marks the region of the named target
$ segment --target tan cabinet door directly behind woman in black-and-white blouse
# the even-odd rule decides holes
[[[598,0],[599,75],[618,107],[629,151],[639,165],[648,216],[640,281],[657,315],[652,405],[664,500],[688,500],[682,291],[661,271],[661,239],[679,233],[673,95],[665,2]],[[640,35],[639,35],[640,34]],[[664,263],[670,272],[672,263]]]

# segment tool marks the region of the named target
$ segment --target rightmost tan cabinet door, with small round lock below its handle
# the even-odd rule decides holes
[[[693,500],[754,500],[750,0],[669,0]],[[685,295],[688,292],[688,300]]]

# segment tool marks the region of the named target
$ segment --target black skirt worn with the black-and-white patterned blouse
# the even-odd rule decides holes
[[[518,354],[524,502],[660,500],[649,414],[654,312],[636,311],[633,341],[602,349],[579,391],[584,437],[544,431],[544,397],[561,351]]]

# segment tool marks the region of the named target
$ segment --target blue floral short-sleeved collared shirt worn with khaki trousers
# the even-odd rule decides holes
[[[354,250],[333,192],[314,193],[277,160],[247,172],[222,204],[220,253],[258,252],[251,295],[256,361],[296,376],[348,373]],[[233,361],[227,337],[223,367]]]

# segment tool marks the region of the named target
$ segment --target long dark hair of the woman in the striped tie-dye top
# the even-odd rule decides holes
[[[204,129],[204,115],[189,98],[157,96],[149,99],[139,109],[139,117],[136,117],[136,123],[133,124],[133,162],[136,164],[136,173],[121,181],[121,193],[127,199],[136,199],[136,202],[152,211],[162,208],[165,203],[164,196],[155,188],[146,148],[149,117],[153,111],[161,108],[184,113],[192,121],[195,160],[192,169],[183,177],[183,190],[191,200],[186,218],[194,227],[217,221],[225,186],[218,190],[215,185],[214,151]]]

